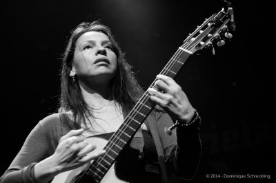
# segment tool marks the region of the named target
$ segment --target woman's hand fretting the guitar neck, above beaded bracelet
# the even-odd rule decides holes
[[[151,95],[150,100],[161,106],[171,117],[176,117],[186,123],[190,122],[195,109],[181,87],[168,76],[160,74],[156,78],[156,89],[148,89]]]

